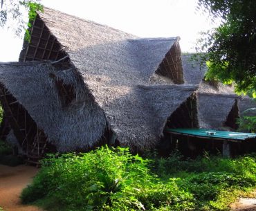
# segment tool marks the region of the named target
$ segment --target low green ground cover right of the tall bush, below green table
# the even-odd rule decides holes
[[[153,154],[150,167],[160,178],[179,178],[176,184],[194,196],[195,210],[226,210],[244,190],[256,186],[256,155],[240,158],[210,157],[195,160],[175,152],[168,158]]]

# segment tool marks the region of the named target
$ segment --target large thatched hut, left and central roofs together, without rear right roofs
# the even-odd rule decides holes
[[[25,151],[25,143],[40,138],[60,152],[102,139],[152,147],[167,118],[198,88],[183,84],[179,37],[140,39],[48,8],[33,22],[19,60],[0,64],[3,95],[11,96],[0,100],[6,110],[15,110],[12,102],[22,108],[9,123]],[[36,133],[27,135],[24,117]]]

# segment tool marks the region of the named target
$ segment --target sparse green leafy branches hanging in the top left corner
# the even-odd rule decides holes
[[[1,0],[0,10],[0,26],[6,26],[8,21],[15,20],[13,28],[16,35],[21,35],[21,32],[25,29],[26,35],[28,35],[27,28],[30,27],[30,20],[35,19],[37,11],[43,11],[40,0]],[[28,11],[28,20],[24,20],[22,10]],[[28,21],[28,22],[27,22]]]

